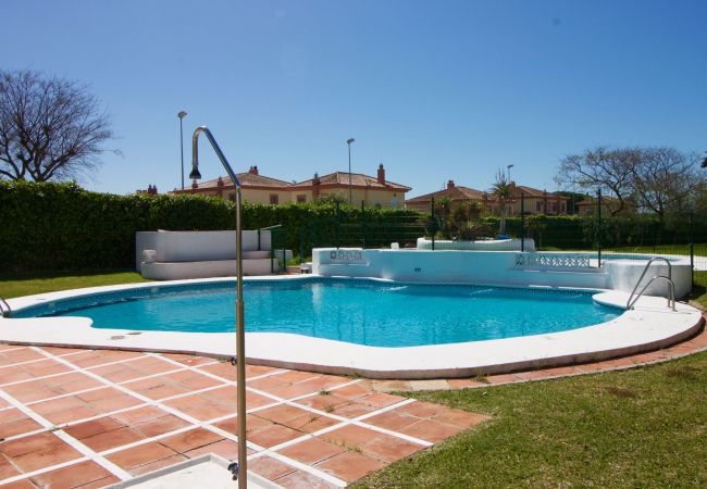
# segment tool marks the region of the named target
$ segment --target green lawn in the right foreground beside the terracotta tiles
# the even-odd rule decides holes
[[[707,305],[707,272],[692,300]],[[707,352],[624,372],[402,396],[493,419],[357,488],[707,487]]]

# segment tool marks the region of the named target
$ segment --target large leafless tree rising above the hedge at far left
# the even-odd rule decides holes
[[[76,177],[100,163],[112,137],[108,114],[85,86],[0,70],[0,178]]]

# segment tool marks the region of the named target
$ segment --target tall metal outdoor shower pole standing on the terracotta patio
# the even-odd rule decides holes
[[[228,465],[234,479],[238,479],[238,488],[248,487],[248,462],[246,448],[246,324],[243,303],[243,234],[240,228],[240,180],[233,171],[226,156],[221,151],[219,143],[207,126],[199,126],[191,136],[191,173],[189,178],[201,179],[199,173],[199,135],[203,133],[209,139],[211,147],[219,156],[221,164],[226,170],[233,185],[236,187],[236,399],[238,415],[238,462]]]

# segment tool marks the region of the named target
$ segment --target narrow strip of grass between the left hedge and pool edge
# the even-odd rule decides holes
[[[137,272],[46,272],[0,276],[0,297],[30,296],[58,290],[147,281]]]

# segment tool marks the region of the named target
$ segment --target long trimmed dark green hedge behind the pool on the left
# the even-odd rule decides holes
[[[413,211],[365,210],[367,234],[388,243],[400,240],[421,214]],[[339,221],[360,222],[359,209],[343,209]],[[281,224],[276,239],[305,255],[312,246],[360,246],[337,236],[336,209],[313,203],[263,205],[246,202],[244,229]],[[397,224],[396,224],[397,223]],[[396,228],[396,226],[398,228]],[[135,233],[140,230],[214,230],[235,227],[234,203],[200,196],[116,196],[82,189],[76,184],[0,183],[0,273],[52,269],[131,268]],[[340,235],[340,234],[339,234]],[[338,238],[338,240],[337,240]],[[284,242],[283,242],[284,240]],[[367,242],[372,246],[373,242]]]

